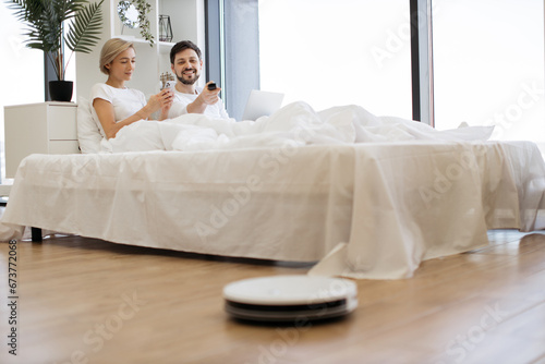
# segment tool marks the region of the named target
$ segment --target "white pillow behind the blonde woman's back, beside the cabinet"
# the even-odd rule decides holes
[[[84,154],[100,151],[102,135],[98,118],[90,102],[83,97],[77,98],[77,141]]]

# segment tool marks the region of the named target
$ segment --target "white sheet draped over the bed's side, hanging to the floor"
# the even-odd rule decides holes
[[[488,229],[545,228],[544,191],[529,142],[33,155],[2,223],[397,279]]]

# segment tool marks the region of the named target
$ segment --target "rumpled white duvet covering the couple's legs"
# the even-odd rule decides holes
[[[392,117],[376,117],[362,107],[335,107],[320,112],[307,104],[290,104],[256,121],[210,119],[184,114],[166,121],[141,120],[102,141],[107,153],[147,150],[205,150],[225,148],[353,144],[365,142],[485,141],[493,126],[437,131],[426,124]]]

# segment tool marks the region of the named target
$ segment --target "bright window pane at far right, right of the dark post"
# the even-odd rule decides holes
[[[437,129],[545,146],[543,0],[434,0],[433,41]]]

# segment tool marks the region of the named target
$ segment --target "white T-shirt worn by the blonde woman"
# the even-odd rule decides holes
[[[90,88],[90,102],[101,98],[111,104],[116,122],[129,118],[146,106],[144,93],[134,88],[116,88],[107,84],[96,84]]]

